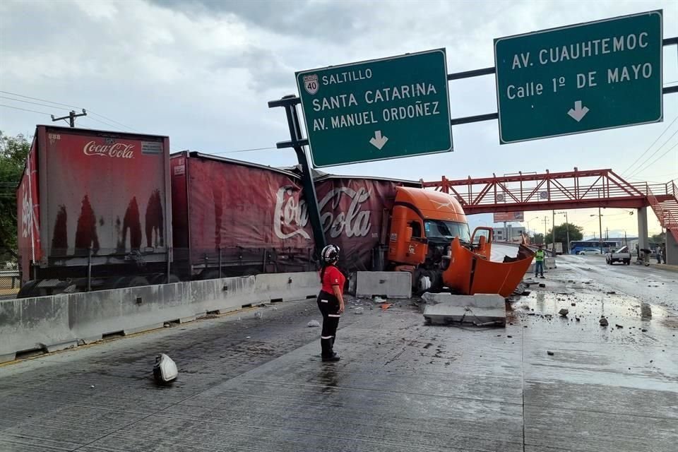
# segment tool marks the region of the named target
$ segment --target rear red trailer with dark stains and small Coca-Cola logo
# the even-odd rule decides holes
[[[17,191],[20,296],[167,280],[170,199],[166,136],[37,126]]]

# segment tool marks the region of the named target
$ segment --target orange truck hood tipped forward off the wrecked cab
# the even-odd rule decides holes
[[[521,246],[512,262],[492,262],[461,246],[451,245],[451,263],[443,273],[443,281],[453,292],[462,295],[499,294],[509,297],[532,263],[534,253]]]

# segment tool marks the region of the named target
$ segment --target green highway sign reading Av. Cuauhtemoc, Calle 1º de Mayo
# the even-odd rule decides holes
[[[494,40],[501,144],[662,121],[662,11]]]

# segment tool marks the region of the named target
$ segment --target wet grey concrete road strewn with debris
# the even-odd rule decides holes
[[[559,258],[501,329],[351,302],[338,363],[307,300],[4,365],[0,451],[673,452],[678,273],[598,259]]]

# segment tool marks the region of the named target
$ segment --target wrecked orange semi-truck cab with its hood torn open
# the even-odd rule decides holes
[[[453,196],[397,187],[388,234],[388,268],[412,273],[415,292],[448,287],[464,295],[499,293],[509,297],[532,263],[521,246],[518,258],[490,261],[492,228],[470,234],[466,215]],[[521,273],[522,272],[522,273]]]

